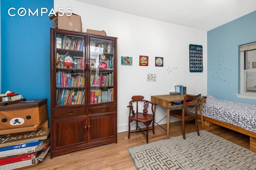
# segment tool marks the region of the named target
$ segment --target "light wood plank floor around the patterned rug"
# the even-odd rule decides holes
[[[162,125],[166,128],[166,124]],[[186,133],[196,131],[194,122],[186,122]],[[249,149],[249,137],[234,131],[220,128],[210,131],[237,145]],[[170,137],[182,135],[181,123],[170,123]],[[166,138],[166,131],[155,126],[155,134],[149,132],[149,142]],[[128,148],[146,143],[142,133],[132,133],[128,139],[128,132],[118,133],[118,143],[102,145],[79,150],[50,159],[50,153],[36,166],[26,170],[136,170],[128,153]]]

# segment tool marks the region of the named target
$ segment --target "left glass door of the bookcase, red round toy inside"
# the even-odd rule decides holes
[[[56,34],[56,105],[85,104],[84,37]]]

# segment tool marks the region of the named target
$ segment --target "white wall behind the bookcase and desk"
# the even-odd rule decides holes
[[[86,29],[104,30],[118,37],[118,132],[128,131],[128,102],[133,95],[169,94],[182,84],[187,93],[207,92],[207,32],[171,23],[134,16],[76,0],[54,0],[54,9],[72,8]],[[175,16],[170,16],[175,17]],[[196,18],[195,18],[196,20]],[[189,44],[203,46],[202,73],[189,71]],[[149,56],[148,66],[139,66],[139,55]],[[121,56],[133,57],[132,66],[121,65]],[[155,57],[164,57],[164,66],[156,67]],[[156,74],[156,82],[147,82],[147,73]],[[166,108],[157,106],[156,122],[166,116]],[[170,121],[175,121],[170,119]],[[160,124],[166,123],[166,119]]]

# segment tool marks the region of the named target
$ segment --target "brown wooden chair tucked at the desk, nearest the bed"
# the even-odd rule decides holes
[[[170,110],[171,116],[181,119],[183,139],[186,139],[185,121],[189,121],[189,120],[195,120],[196,131],[198,136],[200,136],[198,131],[198,125],[197,125],[197,112],[198,112],[200,98],[201,98],[201,94],[198,94],[197,96],[185,94],[182,109]],[[191,101],[192,103],[189,103],[188,101]],[[195,107],[195,113],[186,111],[186,107]]]

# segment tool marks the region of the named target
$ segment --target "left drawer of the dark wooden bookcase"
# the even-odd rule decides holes
[[[66,109],[53,111],[54,118],[64,118],[86,115],[86,109]]]

